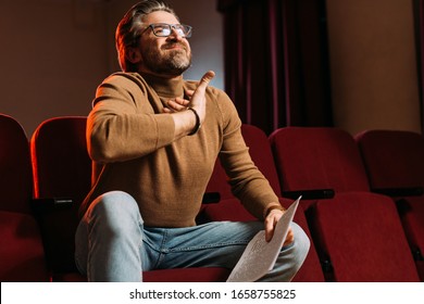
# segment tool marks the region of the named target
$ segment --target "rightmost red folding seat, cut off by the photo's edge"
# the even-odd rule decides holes
[[[390,195],[424,281],[424,137],[407,130],[356,136],[372,191]]]

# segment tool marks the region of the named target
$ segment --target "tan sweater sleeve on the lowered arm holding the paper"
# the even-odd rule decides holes
[[[264,211],[270,203],[278,203],[278,197],[251,160],[241,135],[241,121],[225,93],[222,93],[220,105],[224,124],[220,161],[229,178],[234,195],[251,214],[263,219]]]

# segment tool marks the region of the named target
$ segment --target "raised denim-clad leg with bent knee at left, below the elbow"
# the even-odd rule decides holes
[[[89,281],[140,281],[142,229],[138,204],[129,194],[111,191],[100,195],[76,232],[78,270]]]

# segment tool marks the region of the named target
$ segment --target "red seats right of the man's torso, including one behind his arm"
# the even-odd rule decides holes
[[[337,128],[287,127],[267,138],[248,125],[242,132],[274,190],[283,198],[302,194],[295,220],[313,242],[295,281],[424,280],[421,135],[371,130],[352,137]],[[215,169],[208,191],[221,191],[224,200],[205,207],[208,219],[248,219],[222,190],[222,170]]]

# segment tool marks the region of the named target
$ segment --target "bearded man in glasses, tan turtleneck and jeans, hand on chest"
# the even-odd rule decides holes
[[[124,73],[98,88],[87,123],[92,189],[82,206],[76,263],[89,281],[140,281],[142,270],[233,268],[261,229],[271,240],[284,213],[253,165],[229,98],[185,81],[191,28],[155,0],[134,5],[116,29]],[[262,221],[196,225],[202,195],[220,156],[233,192]],[[309,250],[292,225],[264,281],[289,281]]]

